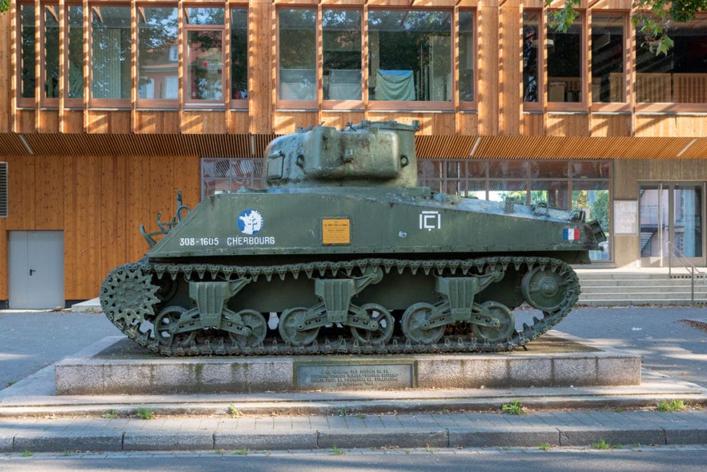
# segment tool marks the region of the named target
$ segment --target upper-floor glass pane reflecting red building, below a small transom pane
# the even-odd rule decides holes
[[[223,100],[223,31],[187,31],[187,100]]]

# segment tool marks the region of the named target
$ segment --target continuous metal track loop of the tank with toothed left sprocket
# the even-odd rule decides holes
[[[425,275],[450,274],[457,276],[479,275],[493,270],[503,270],[508,267],[515,270],[525,268],[532,270],[551,271],[553,277],[561,280],[559,283],[565,287],[563,299],[552,311],[543,311],[542,318],[533,318],[532,325],[523,324],[522,329],[514,329],[505,340],[489,343],[479,343],[474,335],[445,335],[439,343],[422,344],[410,343],[407,338],[396,336],[387,343],[361,344],[349,336],[339,335],[337,340],[314,340],[310,345],[293,347],[284,343],[280,338],[267,338],[255,347],[239,347],[231,342],[228,333],[221,330],[201,330],[194,336],[188,346],[165,345],[153,335],[152,321],[154,321],[158,299],[158,287],[153,284],[153,277],[161,280],[163,277],[196,276],[195,280],[232,280],[233,276],[265,277],[270,281],[272,277],[301,277],[309,279],[339,275],[345,273],[351,276],[355,270],[363,272],[370,267],[380,267],[387,274],[397,270],[400,274],[410,271],[413,275],[422,271]],[[526,272],[526,273],[527,273]],[[440,353],[440,352],[503,352],[523,346],[531,340],[546,333],[559,323],[578,300],[580,286],[578,277],[570,265],[554,258],[528,257],[528,256],[503,256],[474,258],[471,260],[398,260],[384,258],[366,258],[346,260],[342,262],[312,262],[287,265],[267,266],[233,266],[233,265],[205,265],[205,264],[163,264],[141,261],[116,267],[105,278],[101,286],[101,306],[107,318],[128,338],[151,352],[166,356],[197,356],[197,355],[383,355],[383,354],[412,354],[412,353]],[[399,322],[399,320],[398,320]],[[349,334],[345,329],[340,333]]]

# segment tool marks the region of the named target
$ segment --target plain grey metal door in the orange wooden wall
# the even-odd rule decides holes
[[[64,306],[64,231],[10,231],[9,306]]]

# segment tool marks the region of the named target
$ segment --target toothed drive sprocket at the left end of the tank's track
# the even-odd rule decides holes
[[[140,265],[122,265],[103,280],[100,305],[113,323],[121,320],[127,326],[142,323],[146,316],[154,315],[152,307],[159,301],[157,289],[152,276]]]

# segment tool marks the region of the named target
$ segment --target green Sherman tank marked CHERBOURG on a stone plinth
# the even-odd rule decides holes
[[[141,227],[144,258],[105,278],[105,315],[162,355],[495,352],[537,338],[576,303],[572,265],[590,262],[600,225],[420,187],[418,130],[298,129],[267,146],[265,190],[191,211],[178,194],[173,219]]]

